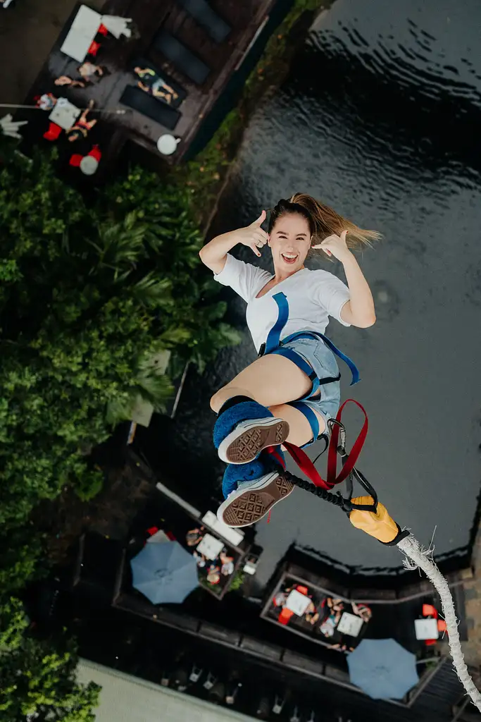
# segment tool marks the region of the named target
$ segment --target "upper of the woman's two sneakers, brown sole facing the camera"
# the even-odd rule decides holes
[[[247,464],[266,446],[278,446],[289,435],[288,422],[283,419],[242,421],[226,436],[217,450],[226,464]]]

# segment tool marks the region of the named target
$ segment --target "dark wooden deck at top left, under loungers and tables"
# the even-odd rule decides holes
[[[60,48],[69,31],[76,9],[66,22],[53,50],[40,71],[34,86],[30,90],[26,103],[31,104],[35,96],[52,92],[56,97],[63,96],[79,108],[87,107],[89,100],[95,106],[91,117],[97,116],[99,122],[89,132],[88,139],[69,143],[64,134],[56,141],[61,155],[70,157],[71,153],[88,152],[92,144],[99,144],[103,154],[100,164],[105,171],[109,160],[116,157],[126,140],[132,140],[156,156],[156,142],[164,133],[171,133],[180,139],[177,152],[172,156],[162,156],[164,160],[175,164],[182,160],[199,126],[208,116],[213,104],[219,98],[235,70],[252,46],[256,33],[262,27],[276,0],[209,0],[211,7],[230,26],[231,32],[222,43],[216,43],[208,33],[175,0],[107,0],[102,8],[104,14],[115,14],[133,19],[133,36],[130,39],[116,40],[111,35],[102,38],[102,46],[94,62],[107,68],[104,77],[88,84],[86,88],[56,87],[54,80],[61,75],[78,78],[79,63],[61,53]],[[180,40],[195,56],[198,56],[211,69],[206,82],[195,84],[182,72],[153,48],[156,33],[165,29]],[[136,58],[146,58],[154,67],[166,73],[180,84],[187,93],[180,104],[180,119],[173,131],[151,120],[136,110],[126,108],[120,103],[120,97],[128,86],[135,87],[138,78],[131,66]],[[154,101],[152,96],[146,95]],[[155,100],[162,103],[162,100]],[[107,111],[124,110],[122,115]],[[27,142],[44,142],[43,133],[48,128],[48,113],[39,110],[23,110],[19,119],[27,118]],[[68,168],[68,159],[66,160]],[[76,171],[77,175],[79,171]]]

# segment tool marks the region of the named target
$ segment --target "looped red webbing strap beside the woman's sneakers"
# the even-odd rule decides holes
[[[306,474],[306,477],[308,479],[311,479],[312,483],[316,487],[322,487],[322,489],[325,489],[329,491],[332,489],[332,487],[335,486],[335,484],[340,484],[340,482],[343,482],[344,479],[348,477],[350,474],[350,471],[353,470],[354,466],[356,465],[356,461],[358,460],[359,454],[361,453],[361,449],[363,448],[363,444],[366,441],[366,436],[368,432],[368,426],[369,421],[366,414],[366,410],[364,409],[361,404],[359,404],[358,401],[355,401],[355,399],[347,399],[347,401],[344,401],[343,405],[340,407],[339,411],[337,412],[336,420],[340,421],[341,417],[343,415],[343,409],[345,404],[348,404],[349,401],[353,401],[354,404],[359,406],[361,411],[364,414],[364,423],[363,427],[361,429],[361,432],[359,432],[358,438],[353,444],[353,448],[350,450],[350,454],[348,456],[348,460],[345,462],[343,468],[340,470],[339,476],[336,476],[337,474],[337,444],[339,443],[339,432],[340,427],[337,426],[337,424],[333,425],[332,427],[332,433],[331,438],[329,442],[329,452],[327,456],[327,481],[322,479],[321,475],[319,474],[319,471],[317,471],[314,464],[312,464],[311,459],[309,456],[307,456],[305,451],[302,451],[299,446],[295,446],[294,444],[289,443],[288,441],[284,441],[284,446],[286,447],[287,451],[291,454],[292,458],[294,458],[294,461],[296,462],[297,466],[299,466],[299,469]]]

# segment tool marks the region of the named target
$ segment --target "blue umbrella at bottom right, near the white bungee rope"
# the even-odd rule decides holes
[[[394,639],[364,639],[348,666],[350,681],[373,700],[402,700],[419,680],[414,654]]]

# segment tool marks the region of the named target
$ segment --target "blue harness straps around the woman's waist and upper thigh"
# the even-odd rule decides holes
[[[347,355],[345,355],[340,349],[338,349],[335,344],[330,341],[330,339],[327,338],[324,334],[319,333],[319,331],[297,331],[294,334],[291,334],[290,336],[286,336],[286,338],[282,339],[281,342],[281,333],[283,331],[284,326],[286,326],[286,323],[288,321],[289,317],[289,304],[287,297],[284,293],[279,292],[273,295],[273,299],[275,300],[275,303],[278,306],[278,318],[277,321],[275,321],[274,326],[272,329],[270,329],[267,341],[265,344],[262,344],[262,347],[260,349],[259,355],[262,356],[263,354],[270,354],[270,353],[276,353],[282,356],[285,356],[286,358],[290,359],[292,362],[294,362],[301,371],[304,371],[306,375],[309,376],[309,378],[312,380],[312,390],[310,391],[308,396],[305,396],[304,399],[309,399],[310,396],[312,396],[314,393],[317,392],[319,389],[319,386],[321,383],[329,383],[330,381],[338,380],[338,378],[330,378],[330,379],[319,379],[317,378],[317,375],[314,373],[313,377],[313,370],[312,367],[295,351],[292,349],[286,349],[283,347],[283,344],[287,344],[291,341],[295,341],[296,339],[322,339],[322,341],[326,344],[326,346],[334,353],[337,357],[342,359],[350,368],[350,373],[352,374],[352,381],[350,382],[350,386],[353,386],[355,383],[358,383],[359,380],[359,371],[356,364],[353,362],[352,359],[350,359]],[[301,399],[299,399],[301,401]]]

